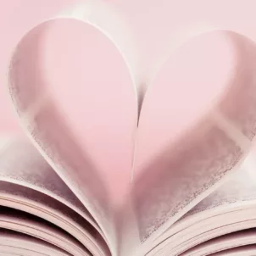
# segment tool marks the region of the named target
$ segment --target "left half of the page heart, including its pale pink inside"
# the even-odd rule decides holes
[[[122,22],[114,23],[116,17],[110,15],[113,30],[113,26],[103,22],[104,5],[103,9],[99,6],[97,1],[86,1],[60,14],[58,19],[47,20],[25,31],[10,61],[8,90],[33,145],[88,210],[114,253],[118,237],[109,191],[111,196],[120,196],[122,192],[116,193],[114,187],[125,190],[122,185],[129,183],[137,123],[136,90],[131,65],[126,59],[130,53],[125,55],[132,47],[124,49],[123,36],[116,31],[116,24]],[[104,17],[109,18],[108,8],[106,12]],[[81,53],[73,54],[76,48],[70,49],[68,43],[66,49],[70,54],[64,51],[56,57],[54,53],[60,47],[47,52],[46,49],[53,46],[46,43],[49,31],[61,23],[68,27],[73,24],[84,31],[87,37],[73,41],[84,42],[80,44]],[[67,34],[65,38],[70,40]],[[71,61],[66,59],[68,56]],[[77,65],[79,68],[74,65],[78,61],[74,56],[83,60]],[[47,63],[49,59],[53,61]],[[109,59],[117,64],[109,65]],[[71,70],[75,67],[75,75],[65,80],[64,75],[72,72],[59,70],[69,64]],[[49,81],[47,75],[52,70],[53,80]],[[119,182],[114,182],[116,179]]]

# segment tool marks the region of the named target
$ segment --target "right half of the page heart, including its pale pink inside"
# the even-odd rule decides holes
[[[248,153],[256,131],[255,66],[254,42],[211,31],[159,70],[136,142],[132,198],[142,242],[220,186]]]

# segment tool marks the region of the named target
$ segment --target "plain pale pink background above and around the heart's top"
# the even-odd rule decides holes
[[[84,1],[86,2],[86,1]],[[256,40],[253,0],[106,0],[125,16],[136,35],[141,81],[179,38],[205,27],[238,31]],[[3,89],[9,53],[19,37],[75,0],[9,0],[0,3],[0,116],[3,133],[19,132]]]

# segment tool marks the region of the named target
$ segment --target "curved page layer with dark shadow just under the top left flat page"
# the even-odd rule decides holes
[[[67,231],[89,251],[109,255],[103,237],[80,214],[64,203],[29,187],[0,181],[0,205],[38,216]]]

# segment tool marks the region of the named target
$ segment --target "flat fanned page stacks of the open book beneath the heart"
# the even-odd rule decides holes
[[[138,255],[233,255],[235,248],[236,255],[254,255],[256,181],[251,162],[252,156],[180,220],[170,225],[173,221],[167,220],[166,230]],[[114,235],[111,229],[119,218],[102,214],[103,232],[95,220],[99,212],[91,214],[26,139],[5,142],[0,163],[1,255],[136,255],[141,250],[142,239],[132,237],[139,224],[130,223],[123,231],[129,233]],[[106,213],[106,204],[101,207]],[[130,221],[131,215],[125,213],[125,218]],[[125,251],[118,253],[121,238]]]

